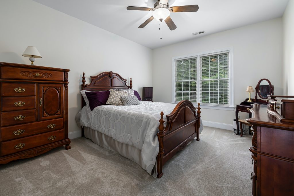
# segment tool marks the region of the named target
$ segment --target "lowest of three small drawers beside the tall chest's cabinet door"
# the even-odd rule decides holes
[[[36,110],[17,110],[1,113],[1,126],[30,123],[36,121]]]

